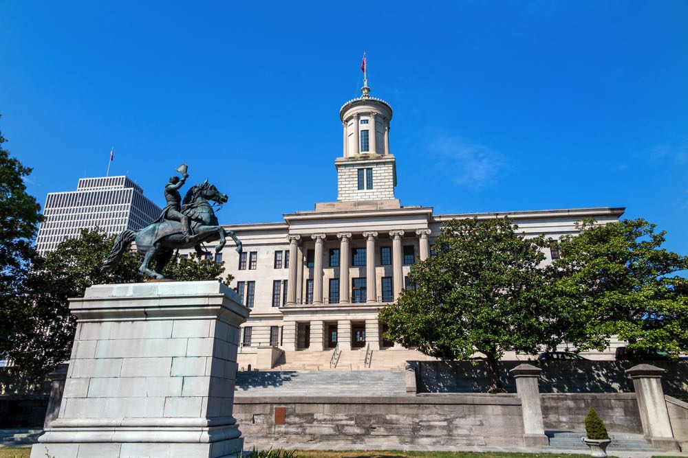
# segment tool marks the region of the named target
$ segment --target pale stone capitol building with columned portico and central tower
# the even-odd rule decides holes
[[[556,240],[576,233],[583,218],[603,224],[623,214],[621,207],[435,214],[432,207],[401,205],[394,192],[397,158],[389,149],[392,108],[372,97],[367,84],[361,91],[339,111],[336,202],[290,210],[281,222],[226,225],[244,252],[230,244],[215,259],[224,260],[226,273],[235,277],[231,286],[251,309],[239,367],[363,368],[371,352],[378,367],[408,359],[409,350],[383,339],[378,313],[411,287],[411,266],[432,255],[447,220],[508,216],[526,236]],[[546,262],[558,256],[556,247],[545,254]],[[335,348],[341,355],[333,362]]]

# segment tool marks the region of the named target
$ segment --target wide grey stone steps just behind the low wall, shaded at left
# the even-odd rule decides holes
[[[404,380],[403,371],[389,370],[240,371],[237,372],[235,397],[406,396]]]

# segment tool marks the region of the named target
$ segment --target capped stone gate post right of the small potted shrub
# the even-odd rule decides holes
[[[667,401],[662,389],[662,376],[665,373],[665,369],[649,364],[639,364],[626,371],[633,380],[645,437],[655,448],[680,451],[671,428]]]

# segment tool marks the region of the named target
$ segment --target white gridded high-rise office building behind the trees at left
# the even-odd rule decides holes
[[[161,213],[127,176],[80,178],[76,191],[47,194],[36,250],[52,251],[63,240],[78,237],[83,228],[98,227],[106,233],[138,230]]]

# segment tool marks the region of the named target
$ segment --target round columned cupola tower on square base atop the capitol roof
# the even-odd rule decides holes
[[[361,97],[339,111],[344,130],[343,156],[337,168],[337,201],[394,200],[396,161],[389,154],[391,106],[370,96],[367,80]]]

